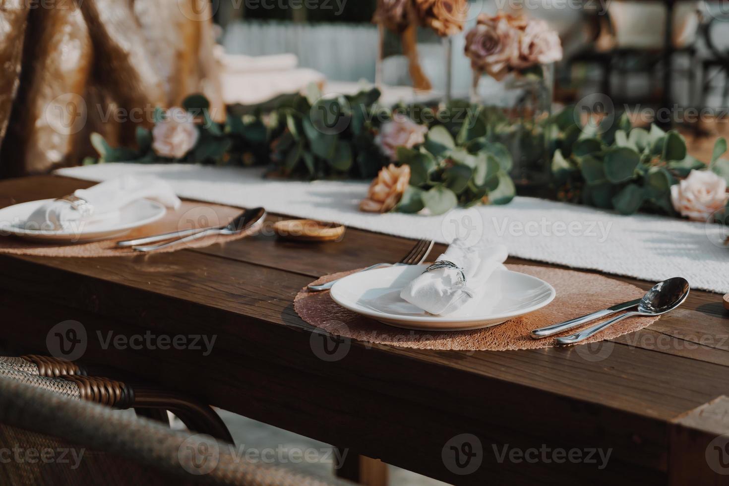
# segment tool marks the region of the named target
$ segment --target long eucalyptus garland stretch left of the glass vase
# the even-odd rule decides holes
[[[424,105],[384,107],[380,91],[322,96],[311,85],[268,114],[235,116],[214,122],[209,103],[193,95],[183,108],[195,119],[199,137],[182,157],[155,152],[151,130],[137,129],[137,147],[112,147],[98,135],[92,142],[98,162],[189,162],[218,165],[266,165],[269,176],[295,179],[372,179],[392,162],[376,138],[395,114],[405,114],[424,127],[421,144],[397,149],[396,162],[410,165],[410,186],[395,208],[440,214],[456,205],[508,203],[515,187],[506,147],[487,135],[486,111],[469,103],[443,108]],[[155,111],[155,123],[165,123],[165,111]]]

